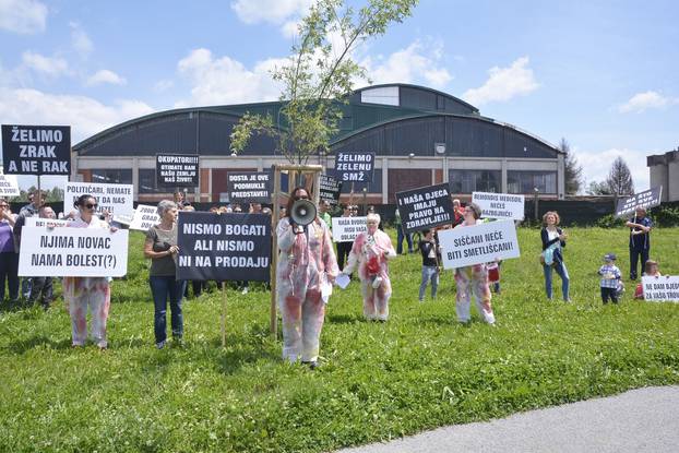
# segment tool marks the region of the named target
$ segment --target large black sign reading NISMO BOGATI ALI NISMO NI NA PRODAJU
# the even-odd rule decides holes
[[[271,216],[181,212],[177,278],[269,282]]]

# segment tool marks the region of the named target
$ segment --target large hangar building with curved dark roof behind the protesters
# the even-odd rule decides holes
[[[195,107],[160,111],[123,122],[73,146],[73,179],[133,183],[135,200],[167,195],[155,177],[155,155],[199,154],[200,198],[219,202],[229,171],[261,171],[284,163],[275,142],[255,136],[231,156],[229,135],[246,114],[276,119],[282,103]],[[449,182],[451,191],[564,196],[564,154],[514,126],[483,117],[479,110],[424,86],[388,84],[354,92],[342,105],[340,131],[327,156],[312,156],[332,174],[335,152],[374,152],[373,181],[355,184],[372,204],[395,202],[402,190]],[[349,184],[344,184],[344,193]]]

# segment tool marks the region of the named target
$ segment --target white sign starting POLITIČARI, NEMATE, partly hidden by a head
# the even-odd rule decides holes
[[[96,182],[67,182],[63,206],[70,208],[80,195],[90,194],[97,200],[97,214],[108,211],[112,215],[134,215],[132,184],[99,184]]]

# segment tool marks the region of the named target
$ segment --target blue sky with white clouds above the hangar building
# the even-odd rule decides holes
[[[276,99],[269,70],[308,4],[0,0],[0,122],[70,124],[75,144],[153,111]],[[645,156],[679,146],[678,4],[421,0],[355,58],[373,83],[433,87],[565,138],[587,183],[622,156],[642,190]]]

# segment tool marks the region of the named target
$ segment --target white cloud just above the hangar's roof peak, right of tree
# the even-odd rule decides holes
[[[427,47],[416,40],[386,58],[378,58],[377,63],[370,57],[361,63],[374,84],[424,82],[434,87],[443,87],[453,76],[441,65],[442,53],[441,44]]]

